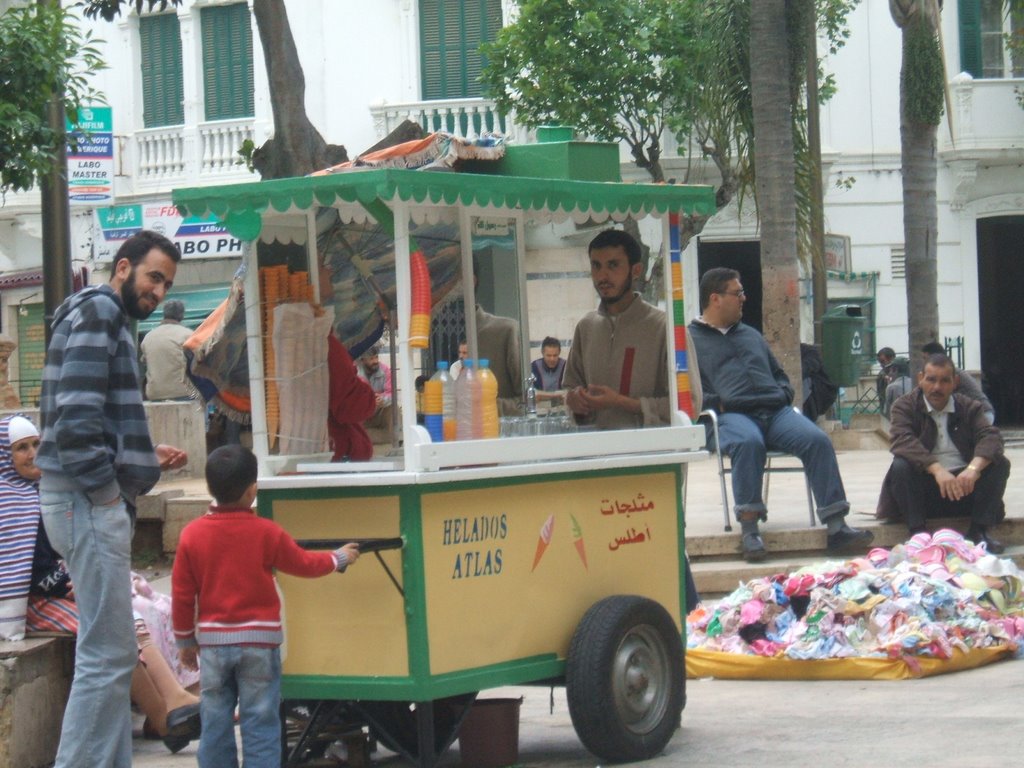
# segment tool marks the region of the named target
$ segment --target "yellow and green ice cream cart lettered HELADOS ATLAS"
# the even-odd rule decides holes
[[[245,244],[232,293],[259,514],[308,546],[384,543],[342,577],[280,577],[284,694],[349,708],[383,743],[429,766],[476,692],[565,684],[588,750],[645,759],[664,749],[684,706],[682,492],[686,463],[706,457],[702,427],[687,414],[676,228],[680,216],[713,213],[714,197],[508,170],[353,170],[174,195],[184,215],[216,220]],[[429,324],[440,297],[474,305],[474,254],[492,259],[495,295],[517,314],[526,374],[537,309],[527,263],[543,263],[552,242],[574,251],[593,307],[579,231],[627,216],[653,223],[660,241],[652,258],[665,262],[671,423],[594,432],[563,419],[538,429],[523,413],[513,436],[432,440],[416,420],[414,380],[438,356]],[[369,318],[350,316],[359,291],[374,297]],[[286,308],[301,316],[283,319]],[[464,315],[475,356],[474,315]],[[333,328],[357,348],[375,325],[394,362],[394,447],[365,464],[332,462],[321,342]]]

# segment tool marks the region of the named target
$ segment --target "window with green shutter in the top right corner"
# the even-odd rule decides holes
[[[1024,10],[1005,0],[959,0],[961,69],[976,78],[1024,77],[1024,57],[1007,45],[1021,34]]]

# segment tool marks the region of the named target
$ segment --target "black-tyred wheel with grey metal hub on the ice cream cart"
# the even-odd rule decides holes
[[[580,740],[608,762],[654,757],[682,716],[686,678],[676,623],[653,600],[606,597],[572,635],[565,667]]]

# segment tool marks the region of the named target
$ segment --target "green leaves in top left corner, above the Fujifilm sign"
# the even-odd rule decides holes
[[[0,15],[0,194],[29,189],[52,168],[63,138],[46,119],[54,95],[71,120],[79,105],[103,101],[89,86],[104,67],[95,43],[59,5]]]

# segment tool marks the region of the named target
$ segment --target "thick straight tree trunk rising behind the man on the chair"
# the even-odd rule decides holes
[[[803,402],[800,270],[785,18],[785,0],[751,3],[751,95],[755,188],[761,223],[763,327],[768,345],[790,376],[799,406]]]

